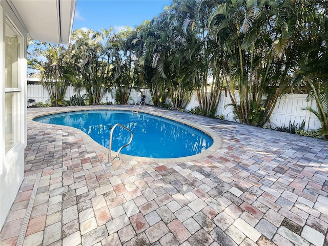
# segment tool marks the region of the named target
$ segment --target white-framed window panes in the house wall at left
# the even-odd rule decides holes
[[[5,151],[6,153],[19,141],[19,60],[22,36],[6,19],[5,24]]]

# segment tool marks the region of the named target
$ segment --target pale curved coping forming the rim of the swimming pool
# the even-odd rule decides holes
[[[78,107],[78,106],[77,106]],[[146,106],[147,107],[147,106]],[[90,110],[122,110],[122,111],[131,111],[132,113],[132,107],[130,108],[123,108],[123,107],[115,107],[115,106],[105,106],[105,107],[101,107],[101,106],[83,106],[83,107],[79,107],[79,108],[49,108],[52,110],[49,110],[48,112],[36,112],[36,113],[31,113],[31,115],[27,115],[27,120],[33,120],[37,117],[40,116],[46,116],[46,115],[52,115],[52,114],[59,114],[59,113],[65,113],[65,112],[78,112],[78,111],[90,111]],[[154,110],[153,106],[150,106],[149,109]],[[161,108],[160,108],[161,109]],[[163,109],[161,109],[163,110]],[[146,114],[151,114],[151,115],[155,115],[155,116],[159,116],[159,117],[163,117],[166,119],[170,119],[176,122],[179,122],[181,124],[190,126],[192,128],[195,128],[207,135],[209,135],[212,139],[213,139],[213,144],[211,147],[209,147],[207,150],[204,150],[203,152],[196,154],[196,155],[191,155],[191,156],[185,156],[185,157],[176,157],[176,158],[151,158],[151,157],[140,157],[140,156],[132,156],[132,155],[126,155],[126,154],[120,154],[119,156],[121,157],[121,159],[125,159],[125,160],[135,160],[135,161],[145,161],[145,162],[158,162],[158,163],[173,163],[173,162],[189,162],[189,161],[193,161],[193,160],[199,160],[202,158],[205,158],[209,155],[211,155],[213,152],[215,152],[216,150],[218,150],[221,147],[222,141],[220,136],[213,131],[212,129],[210,129],[210,126],[196,126],[195,124],[188,122],[186,120],[183,119],[177,119],[174,117],[171,117],[170,115],[164,115],[162,113],[158,113],[158,112],[153,112],[153,111],[148,111],[147,108],[145,108],[145,110],[139,110],[139,112],[142,113],[146,113]],[[195,115],[196,116],[196,115]],[[42,122],[38,122],[38,121],[34,121],[37,124],[42,124],[42,125],[51,125],[51,126],[59,126],[59,125],[54,125],[54,124],[46,124],[46,123],[42,123]],[[73,129],[74,131],[80,133],[81,137],[86,140],[88,142],[88,144],[90,144],[93,148],[100,150],[101,152],[106,153],[106,155],[108,155],[108,148],[98,144],[95,140],[93,140],[87,133],[74,128],[74,127],[69,127],[69,126],[60,126],[60,127],[64,127],[64,128],[69,128],[69,129]],[[115,156],[116,152],[112,151],[112,156]]]

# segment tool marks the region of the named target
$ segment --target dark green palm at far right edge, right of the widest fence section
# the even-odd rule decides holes
[[[298,3],[299,23],[295,43],[298,62],[294,66],[295,84],[305,86],[308,99],[314,98],[317,110],[311,111],[321,123],[321,133],[328,140],[328,13],[327,2]],[[325,10],[325,11],[323,11]]]

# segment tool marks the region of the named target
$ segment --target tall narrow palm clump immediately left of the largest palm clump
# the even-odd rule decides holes
[[[189,79],[197,92],[202,115],[213,117],[217,111],[223,78],[226,73],[226,55],[209,35],[208,2],[183,1],[179,12],[183,18],[183,37],[186,59],[189,61]]]

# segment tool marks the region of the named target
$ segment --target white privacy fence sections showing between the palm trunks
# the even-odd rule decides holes
[[[69,86],[65,95],[65,99],[69,100],[77,92],[74,91],[74,87]],[[81,90],[80,94],[86,94],[85,90]],[[132,90],[130,94],[129,104],[135,104],[137,101],[141,100],[141,96],[146,95],[146,104],[152,105],[151,94],[148,89]],[[238,94],[236,95],[238,98]],[[301,122],[305,121],[305,130],[314,130],[321,127],[318,118],[312,114],[309,110],[302,110],[302,108],[312,107],[317,109],[315,100],[306,101],[306,94],[289,94],[282,96],[270,117],[273,124],[278,127],[286,126],[288,127],[290,121],[292,124],[295,121],[297,127],[300,126]],[[42,85],[27,85],[27,99],[34,99],[36,102],[41,101],[46,103],[50,99],[47,90],[43,88]],[[111,102],[115,103],[115,92],[107,93],[103,100],[103,103]],[[233,119],[233,108],[231,106],[224,108],[225,105],[231,104],[230,97],[226,97],[224,93],[221,95],[219,107],[216,111],[217,115],[224,115],[224,119],[235,121]],[[198,106],[197,94],[193,93],[191,96],[190,103],[187,105],[186,110],[190,110]]]

